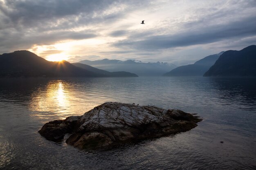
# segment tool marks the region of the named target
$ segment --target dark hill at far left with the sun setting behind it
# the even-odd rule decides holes
[[[49,62],[29,51],[0,55],[0,77],[108,77],[67,61]]]

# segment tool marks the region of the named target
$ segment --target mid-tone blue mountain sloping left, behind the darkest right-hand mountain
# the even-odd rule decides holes
[[[209,70],[209,68],[216,62],[222,53],[224,53],[224,51],[218,54],[204,57],[194,64],[179,66],[169,71],[168,73],[165,73],[164,76],[203,76],[204,73]]]

